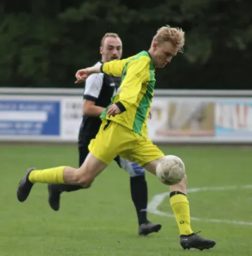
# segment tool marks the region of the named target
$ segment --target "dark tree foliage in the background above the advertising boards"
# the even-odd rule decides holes
[[[148,50],[164,24],[183,28],[184,54],[157,70],[159,88],[249,88],[252,2],[248,0],[41,0],[0,6],[1,86],[74,86],[93,65],[106,32],[123,56]]]

